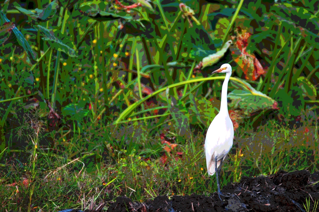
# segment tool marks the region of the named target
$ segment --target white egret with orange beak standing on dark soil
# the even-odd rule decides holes
[[[221,91],[220,110],[214,120],[209,125],[205,139],[205,154],[208,176],[216,173],[218,196],[223,195],[219,188],[219,178],[223,159],[233,146],[234,126],[229,117],[227,105],[227,87],[232,74],[232,67],[223,64],[220,69],[213,73],[226,73],[226,78]],[[218,168],[218,169],[217,169]]]

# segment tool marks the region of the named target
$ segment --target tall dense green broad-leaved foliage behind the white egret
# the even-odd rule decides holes
[[[317,1],[122,2],[138,4],[130,9],[102,0],[26,3],[1,3],[3,163],[30,148],[40,154],[37,147],[66,163],[80,158],[90,169],[102,161],[119,163],[126,152],[158,159],[161,133],[189,145],[219,111],[224,78],[210,74],[223,63],[234,70],[229,109],[244,129],[257,129],[265,119],[292,129],[305,111],[310,125],[317,123],[311,115],[319,103]],[[180,3],[199,25],[183,17]],[[226,45],[241,30],[251,34],[246,52],[265,71],[255,80],[243,72],[238,47]],[[209,55],[211,65],[196,71]],[[29,125],[38,130],[32,142]],[[258,169],[246,174],[265,172]]]

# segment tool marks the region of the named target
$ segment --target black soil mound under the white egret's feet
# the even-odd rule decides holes
[[[239,183],[224,186],[222,193],[230,197],[219,200],[216,193],[211,196],[196,195],[158,196],[153,201],[132,202],[127,197],[118,197],[108,207],[108,212],[187,212],[187,211],[305,211],[303,204],[310,198],[310,210],[315,200],[319,200],[319,172],[279,171],[270,177],[243,177]],[[316,184],[314,184],[316,183]],[[314,184],[314,185],[311,185]]]

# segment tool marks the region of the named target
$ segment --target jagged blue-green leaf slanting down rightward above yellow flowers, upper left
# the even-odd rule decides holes
[[[64,53],[68,54],[70,57],[76,57],[76,47],[73,45],[73,47],[65,44],[57,38],[56,34],[53,32],[52,29],[47,29],[41,25],[38,25],[40,32],[43,33],[43,40],[44,41],[50,41],[52,48],[63,51]]]

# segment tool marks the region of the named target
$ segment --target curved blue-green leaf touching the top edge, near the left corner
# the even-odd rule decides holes
[[[48,18],[52,18],[52,16],[56,13],[56,9],[59,8],[58,1],[56,0],[52,1],[43,9],[36,8],[35,10],[26,10],[22,8],[17,2],[13,2],[13,6],[33,20],[47,20]]]

